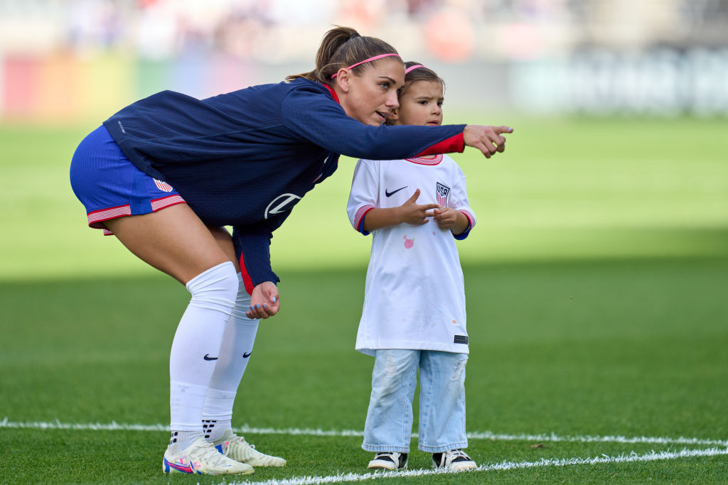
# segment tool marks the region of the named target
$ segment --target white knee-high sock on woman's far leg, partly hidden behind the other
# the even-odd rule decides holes
[[[253,343],[258,331],[258,320],[245,316],[250,308],[250,295],[245,291],[240,273],[237,276],[239,285],[235,308],[225,326],[220,357],[215,365],[202,410],[202,428],[205,438],[210,441],[215,441],[231,428],[232,406],[237,388],[253,353]]]

